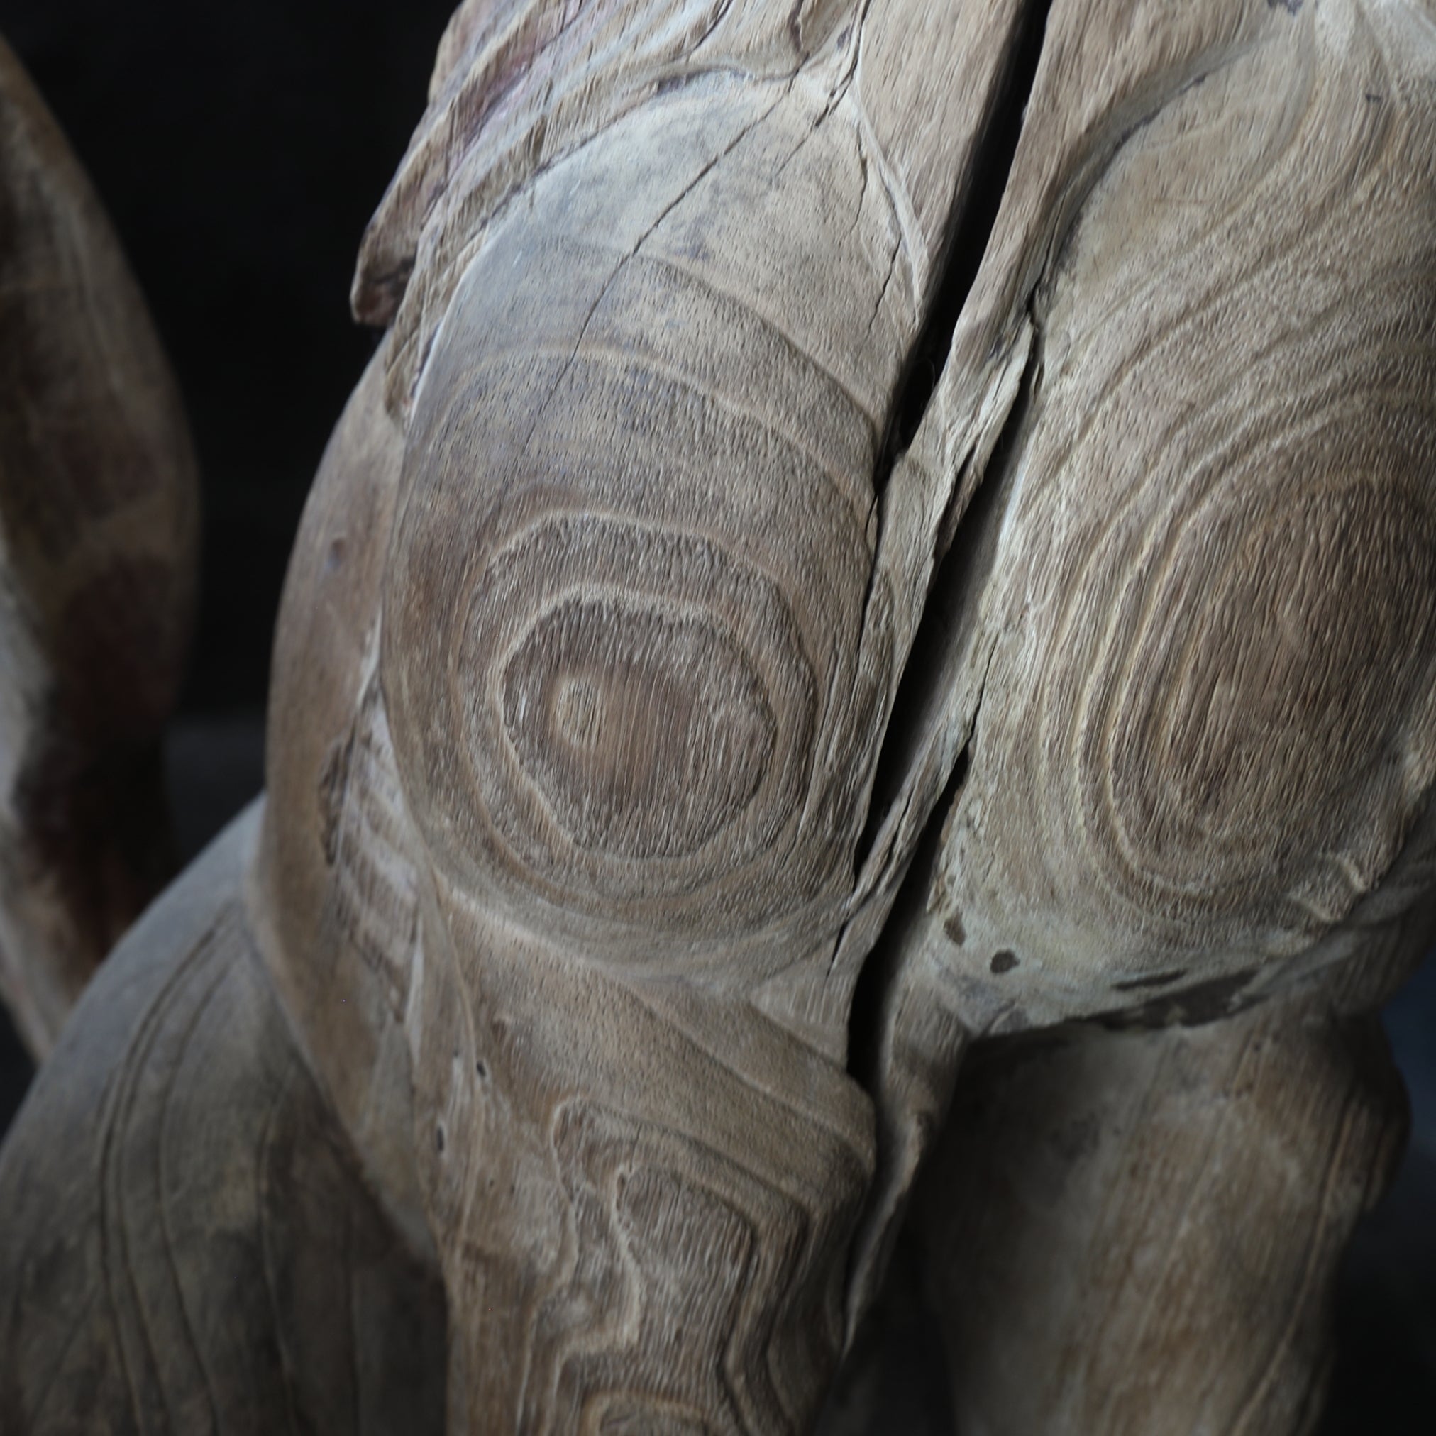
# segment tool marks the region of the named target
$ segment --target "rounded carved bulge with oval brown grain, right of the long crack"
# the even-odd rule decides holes
[[[1053,284],[938,898],[969,943],[949,961],[1014,952],[992,978],[1022,1005],[1302,952],[1436,775],[1436,312],[1409,283],[1432,217],[1404,178],[1429,121],[1364,99],[1397,89],[1374,43],[1318,20],[1294,43],[1285,88],[1255,52],[1137,136]],[[1193,224],[1218,116],[1236,180]]]

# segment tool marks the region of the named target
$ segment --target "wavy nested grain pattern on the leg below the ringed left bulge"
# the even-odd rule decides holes
[[[775,1313],[758,1292],[794,1279],[801,1205],[718,1152],[583,1100],[557,1110],[553,1144],[577,1261],[537,1324],[530,1390],[536,1404],[551,1391],[551,1414],[526,1426],[785,1429],[797,1413],[773,1384]]]

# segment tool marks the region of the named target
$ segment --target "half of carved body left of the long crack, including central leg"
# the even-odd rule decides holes
[[[257,890],[284,913],[271,893],[327,872],[323,958],[286,926],[270,961],[372,1169],[418,1173],[474,1430],[801,1427],[843,1341],[872,1155],[831,955],[895,684],[875,482],[1014,36],[1011,9],[916,13],[811,56],[777,29],[781,65],[735,72],[777,19],[755,7],[663,50],[639,105],[623,76],[672,16],[596,7],[603,86],[566,72],[550,106],[563,32],[477,136],[451,60],[366,244],[360,307],[406,276],[379,360],[395,528],[382,589],[296,569],[276,731],[316,709],[329,590],[369,656],[330,758],[276,745]],[[942,103],[909,131],[919,56]],[[504,116],[534,113],[544,162],[516,178]],[[379,270],[405,214],[425,228]],[[353,432],[388,454],[373,382]],[[316,556],[348,523],[319,507]],[[412,1176],[389,1188],[412,1218]]]

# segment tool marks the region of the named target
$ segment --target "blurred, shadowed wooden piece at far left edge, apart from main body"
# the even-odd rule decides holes
[[[172,875],[197,498],[109,221],[0,42],[0,999],[37,1058]]]

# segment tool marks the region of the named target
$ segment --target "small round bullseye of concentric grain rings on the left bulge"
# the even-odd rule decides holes
[[[649,896],[681,896],[773,843],[817,695],[771,579],[711,537],[573,513],[474,577],[455,717],[516,860],[620,900],[635,863]]]

